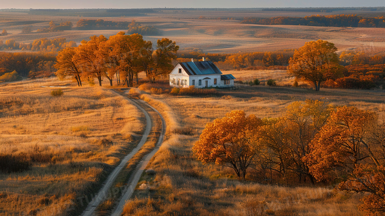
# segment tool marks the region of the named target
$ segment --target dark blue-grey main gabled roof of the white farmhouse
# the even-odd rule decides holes
[[[212,61],[196,61],[179,63],[186,73],[191,75],[222,74],[221,70]]]

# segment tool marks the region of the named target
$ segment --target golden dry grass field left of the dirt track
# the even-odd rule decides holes
[[[61,88],[60,97],[50,95]],[[121,95],[45,79],[0,86],[0,156],[30,164],[0,173],[0,215],[78,215],[135,146],[143,114]],[[96,191],[95,191],[96,190]],[[85,200],[82,200],[85,203]]]

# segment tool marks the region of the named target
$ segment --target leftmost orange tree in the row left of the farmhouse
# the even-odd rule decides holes
[[[57,69],[55,75],[63,80],[66,76],[72,76],[77,81],[77,86],[81,86],[82,71],[80,65],[75,59],[76,48],[68,47],[58,52],[56,57]]]

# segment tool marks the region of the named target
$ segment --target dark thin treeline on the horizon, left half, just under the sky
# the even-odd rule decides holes
[[[30,9],[28,14],[52,16],[119,17],[142,16],[153,9]]]

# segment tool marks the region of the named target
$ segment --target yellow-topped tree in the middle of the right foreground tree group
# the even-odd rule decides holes
[[[311,141],[326,124],[332,107],[318,100],[295,101],[286,108],[284,117],[266,127],[264,140],[272,149],[278,165],[276,171],[283,176],[293,172],[314,183],[303,158],[310,153]]]

